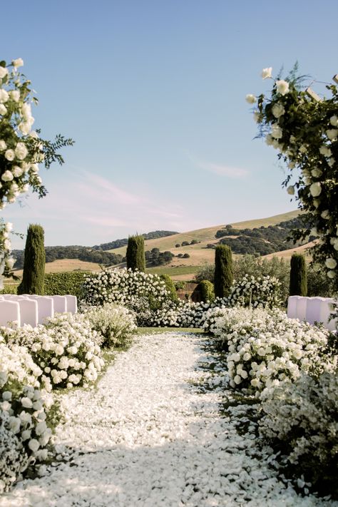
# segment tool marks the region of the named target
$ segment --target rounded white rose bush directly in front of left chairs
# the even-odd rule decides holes
[[[41,374],[58,387],[88,386],[103,367],[101,336],[81,314],[59,314],[46,326],[3,329],[7,341],[29,347]]]

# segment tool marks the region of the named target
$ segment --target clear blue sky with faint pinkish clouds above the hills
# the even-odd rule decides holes
[[[23,58],[38,93],[34,127],[76,140],[41,170],[46,198],[3,212],[18,232],[95,245],[296,208],[245,95],[270,89],[262,68],[296,60],[332,81],[336,0],[16,0],[1,17],[1,58]]]

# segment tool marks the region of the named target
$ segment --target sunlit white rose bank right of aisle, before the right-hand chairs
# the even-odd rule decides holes
[[[302,372],[334,369],[326,356],[329,332],[279,310],[225,309],[212,330],[229,351],[230,385],[253,389],[257,396]]]

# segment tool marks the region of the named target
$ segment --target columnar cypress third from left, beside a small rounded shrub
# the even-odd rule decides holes
[[[215,250],[215,296],[225,297],[233,282],[232,253],[227,245],[217,245]]]

